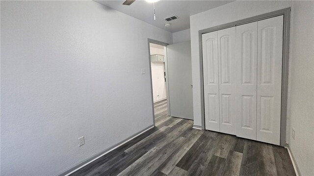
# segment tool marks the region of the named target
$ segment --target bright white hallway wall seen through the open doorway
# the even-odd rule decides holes
[[[150,47],[151,55],[164,55],[164,50]],[[166,84],[164,79],[165,64],[163,62],[151,62],[152,82],[153,82],[153,99],[154,102],[167,98]]]

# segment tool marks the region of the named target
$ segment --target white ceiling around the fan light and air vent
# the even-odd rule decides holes
[[[122,5],[124,0],[95,0],[119,12],[135,17],[141,21],[169,32],[178,32],[190,28],[190,16],[224,5],[233,0],[160,0],[155,3],[156,21],[154,21],[153,3],[135,0],[130,6]],[[170,21],[165,27],[165,18],[177,15],[180,19]]]

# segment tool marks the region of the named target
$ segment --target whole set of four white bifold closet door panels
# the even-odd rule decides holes
[[[202,40],[205,128],[279,145],[283,16]]]

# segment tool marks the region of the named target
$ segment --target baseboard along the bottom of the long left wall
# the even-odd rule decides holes
[[[121,142],[119,142],[119,143],[109,147],[108,149],[104,150],[103,152],[100,152],[100,153],[98,153],[98,154],[96,154],[94,156],[91,156],[90,158],[88,158],[88,159],[78,163],[77,165],[73,166],[72,168],[70,168],[70,169],[68,169],[66,171],[63,171],[62,173],[58,174],[57,176],[69,176],[69,175],[73,174],[74,172],[78,171],[79,169],[83,168],[84,166],[88,165],[89,163],[91,163],[91,162],[95,161],[96,159],[104,156],[105,154],[108,154],[109,152],[119,148],[120,146],[122,146],[122,145],[126,144],[127,142],[131,141],[135,137],[137,137],[137,136],[143,134],[144,132],[147,132],[147,131],[149,131],[149,130],[151,130],[153,128],[155,128],[155,126],[151,125],[151,126],[145,128],[144,130],[131,135],[130,137],[126,138],[125,140],[123,140],[123,141],[121,141]]]

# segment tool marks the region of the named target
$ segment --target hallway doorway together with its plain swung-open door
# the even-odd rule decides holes
[[[148,49],[155,126],[193,120],[191,42],[148,39]]]

